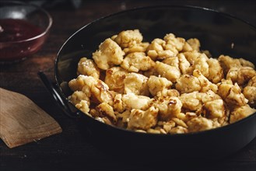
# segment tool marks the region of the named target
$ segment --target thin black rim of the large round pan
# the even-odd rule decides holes
[[[91,26],[94,23],[96,23],[96,22],[98,22],[98,21],[100,21],[102,19],[108,19],[108,18],[110,18],[112,16],[118,16],[118,15],[121,15],[121,14],[123,14],[125,12],[132,12],[132,11],[145,10],[145,9],[164,9],[164,8],[166,8],[166,9],[167,8],[169,8],[169,9],[170,8],[196,9],[196,10],[202,10],[202,11],[206,11],[206,12],[219,13],[222,16],[228,16],[228,17],[231,17],[233,19],[237,19],[240,22],[245,23],[248,26],[251,26],[251,28],[256,32],[256,26],[252,25],[251,23],[247,22],[244,19],[240,19],[237,16],[233,16],[230,13],[219,12],[216,9],[209,9],[209,8],[205,8],[205,7],[201,7],[201,6],[195,6],[195,5],[148,5],[148,6],[142,6],[142,7],[137,7],[137,8],[133,8],[133,9],[126,9],[126,10],[121,11],[121,12],[114,12],[114,13],[111,13],[111,14],[109,14],[107,16],[101,16],[100,18],[94,19],[93,21],[87,23],[86,25],[80,27],[78,30],[76,30],[74,33],[72,33],[71,36],[69,36],[68,39],[66,39],[65,42],[61,45],[61,47],[60,47],[60,49],[58,51],[58,54],[56,55],[56,58],[54,60],[54,79],[56,81],[56,86],[60,90],[58,92],[61,94],[61,97],[64,98],[65,100],[67,100],[68,103],[70,103],[68,101],[67,97],[65,96],[64,92],[61,91],[61,84],[59,84],[59,82],[58,82],[58,81],[61,80],[61,78],[58,75],[58,61],[59,61],[62,49],[65,47],[65,45],[68,43],[69,40],[71,40],[73,37],[75,37],[75,35],[77,33],[79,33],[80,31],[82,31],[86,27]],[[72,103],[70,103],[70,105],[74,106]],[[81,117],[89,117],[89,115],[87,115],[86,113],[83,113],[79,109],[77,109],[76,114],[77,115],[75,117],[77,117],[79,119],[86,119],[86,118],[81,118]],[[221,127],[215,127],[215,128],[209,129],[209,130],[196,131],[196,132],[188,132],[188,133],[183,133],[183,134],[155,134],[155,133],[148,133],[148,132],[144,133],[144,132],[140,132],[140,131],[128,130],[128,129],[125,129],[123,127],[117,127],[117,126],[114,126],[114,125],[105,124],[103,122],[100,122],[99,120],[96,120],[93,117],[89,117],[88,119],[93,120],[93,122],[95,122],[97,124],[103,124],[105,127],[109,127],[109,128],[112,127],[112,128],[114,128],[114,130],[124,131],[127,134],[142,134],[142,136],[145,135],[145,136],[156,136],[156,137],[187,137],[187,136],[195,136],[195,135],[207,134],[207,133],[210,134],[210,133],[214,133],[216,131],[221,131],[221,130],[228,130],[231,127],[237,127],[239,124],[243,124],[244,122],[247,122],[248,120],[251,120],[253,117],[256,117],[256,112],[251,113],[251,115],[249,115],[247,117],[244,117],[241,120],[237,120],[236,122],[234,122],[232,124],[226,124],[226,125],[223,125]]]

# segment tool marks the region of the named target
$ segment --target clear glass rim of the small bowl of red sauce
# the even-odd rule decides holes
[[[10,4],[10,5],[26,5],[26,6],[30,6],[30,7],[33,7],[35,9],[38,9],[38,10],[40,10],[40,12],[43,12],[44,15],[47,16],[48,24],[47,24],[46,29],[44,29],[42,33],[38,34],[35,37],[30,37],[30,38],[25,39],[25,40],[17,40],[17,41],[6,41],[6,42],[0,41],[0,44],[17,44],[17,43],[27,42],[27,41],[30,41],[30,40],[36,40],[37,38],[43,37],[44,35],[46,35],[49,32],[49,30],[51,29],[51,26],[52,26],[52,23],[53,23],[53,19],[52,19],[50,13],[47,12],[42,7],[40,7],[38,5],[34,5],[34,4],[31,4],[31,3],[28,3],[28,2],[19,2],[19,1],[0,1],[0,4],[2,4],[2,3],[3,4],[4,3],[5,4]]]

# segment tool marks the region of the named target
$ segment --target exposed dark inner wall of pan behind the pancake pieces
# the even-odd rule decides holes
[[[71,92],[66,82],[76,78],[80,58],[91,58],[99,44],[122,30],[139,29],[143,41],[167,33],[177,37],[198,38],[202,50],[213,58],[220,54],[245,58],[254,64],[256,56],[255,28],[240,19],[209,9],[182,6],[160,6],[132,9],[98,19],[82,27],[70,37],[58,53],[55,64],[56,81],[63,87],[65,97]],[[232,46],[233,44],[233,46]]]

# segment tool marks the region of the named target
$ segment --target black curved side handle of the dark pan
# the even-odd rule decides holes
[[[44,72],[37,72],[37,75],[44,83],[44,86],[47,88],[48,92],[50,92],[51,96],[54,98],[54,101],[58,103],[58,106],[61,107],[61,110],[68,116],[72,118],[77,118],[80,116],[79,110],[75,107],[71,106],[66,99],[63,99],[56,88],[54,88],[54,84],[47,78]]]

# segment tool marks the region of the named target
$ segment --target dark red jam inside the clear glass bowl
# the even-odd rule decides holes
[[[0,61],[19,61],[37,52],[46,35],[28,39],[42,32],[40,27],[23,19],[0,19]]]

